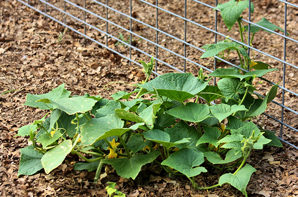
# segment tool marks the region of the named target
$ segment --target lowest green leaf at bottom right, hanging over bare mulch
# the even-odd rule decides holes
[[[254,169],[252,166],[246,164],[235,175],[233,175],[231,173],[222,175],[220,178],[219,184],[220,184],[220,186],[222,186],[223,184],[228,183],[247,196],[246,186],[250,180],[252,173],[254,173],[256,171],[257,170]]]

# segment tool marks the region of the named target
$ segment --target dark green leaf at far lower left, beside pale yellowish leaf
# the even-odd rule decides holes
[[[43,168],[40,161],[43,154],[35,150],[32,145],[21,148],[20,150],[21,158],[17,176],[33,175]]]

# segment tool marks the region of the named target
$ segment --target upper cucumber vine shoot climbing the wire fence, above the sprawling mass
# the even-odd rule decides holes
[[[224,24],[226,25],[226,27],[228,28],[229,31],[231,30],[231,28],[234,26],[235,23],[238,23],[239,35],[240,35],[241,42],[245,43],[249,46],[252,46],[252,41],[253,41],[255,34],[258,31],[260,31],[262,28],[257,27],[255,25],[250,25],[250,33],[252,35],[250,36],[250,39],[248,40],[248,35],[246,34],[246,32],[248,31],[248,25],[244,25],[243,21],[241,20],[242,12],[245,9],[247,9],[248,7],[249,7],[248,0],[239,0],[239,1],[229,0],[228,2],[225,2],[223,4],[219,3],[214,8],[214,10],[216,10],[216,9],[221,10],[221,15],[224,20]],[[251,8],[250,12],[253,13],[254,12],[254,4],[252,2],[250,4],[250,8]],[[275,31],[276,29],[278,29],[282,32],[285,32],[284,29],[269,22],[264,17],[256,24],[258,24],[262,27],[265,27],[269,30],[272,30],[272,31]],[[272,33],[265,29],[262,29],[262,30]],[[287,34],[289,34],[289,33],[287,32]],[[228,54],[229,54],[230,51],[234,50],[238,54],[239,61],[240,61],[239,67],[242,69],[247,70],[249,67],[249,71],[251,71],[251,69],[264,70],[264,69],[268,69],[268,67],[270,67],[270,65],[268,65],[264,62],[254,61],[254,58],[251,60],[251,58],[249,57],[249,55],[247,53],[248,47],[243,46],[237,42],[231,41],[228,38],[229,38],[229,36],[227,36],[227,39],[225,39],[224,41],[219,41],[216,44],[204,45],[203,48],[205,48],[206,51],[201,56],[201,58],[213,57],[213,56],[217,55],[223,59],[226,59],[227,56],[224,57],[224,51],[227,50]],[[244,39],[246,39],[246,41]]]

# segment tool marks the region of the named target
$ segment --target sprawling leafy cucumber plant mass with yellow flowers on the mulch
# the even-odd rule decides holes
[[[142,64],[148,80],[154,58]],[[198,77],[167,73],[135,85],[133,92],[117,92],[111,100],[72,96],[64,84],[47,94],[27,94],[25,105],[50,112],[19,129],[17,135],[28,136],[31,145],[21,149],[18,175],[42,169],[48,174],[72,153],[84,161],[76,161],[74,170],[96,171],[95,183],[104,165],[136,179],[142,166],[151,163],[169,175],[186,176],[196,189],[230,184],[247,196],[256,171],[245,164],[251,150],[282,146],[274,132],[251,121],[277,94],[275,85],[264,99],[251,96],[253,80],[270,71],[242,75],[217,69],[209,76],[201,71]],[[208,85],[212,77],[222,78],[218,86]],[[148,94],[151,98],[145,99]],[[205,103],[198,103],[199,97]],[[215,99],[221,103],[212,105]],[[222,175],[218,184],[202,188],[194,177],[206,173],[208,165]]]

